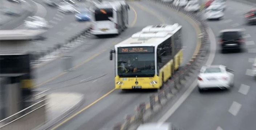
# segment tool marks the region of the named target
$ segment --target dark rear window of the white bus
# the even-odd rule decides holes
[[[113,9],[96,9],[95,21],[109,21],[109,17],[113,17]]]

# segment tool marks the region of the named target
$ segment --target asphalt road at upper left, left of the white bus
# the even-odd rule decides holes
[[[48,6],[42,0],[34,0],[34,3],[37,6],[37,12],[34,12],[34,16],[45,18],[49,22],[50,28],[48,32],[42,35],[46,39],[34,41],[33,45],[27,48],[29,50],[46,52],[48,49],[55,47],[56,44],[64,44],[90,25],[90,22],[76,21],[75,14],[61,13],[56,7]],[[16,29],[27,29],[27,27],[20,25]]]

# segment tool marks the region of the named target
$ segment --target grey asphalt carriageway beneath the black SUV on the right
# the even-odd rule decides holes
[[[212,63],[235,70],[235,86],[228,91],[202,94],[196,88],[166,122],[184,130],[255,130],[256,81],[250,72],[252,59],[256,57],[256,26],[245,25],[243,19],[243,13],[250,8],[251,5],[227,1],[224,20],[208,22],[216,36],[223,29],[245,29],[247,43],[244,52],[222,54],[217,44]],[[161,113],[162,116],[165,114]]]

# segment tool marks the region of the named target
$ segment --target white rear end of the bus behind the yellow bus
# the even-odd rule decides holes
[[[96,9],[91,33],[93,35],[119,34],[117,13],[113,8]]]

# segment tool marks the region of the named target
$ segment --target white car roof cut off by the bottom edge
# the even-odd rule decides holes
[[[172,123],[145,123],[139,125],[136,130],[181,130]]]

